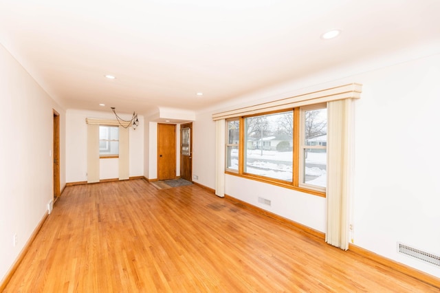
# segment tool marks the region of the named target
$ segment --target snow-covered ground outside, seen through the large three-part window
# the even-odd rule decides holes
[[[247,173],[292,181],[292,151],[263,151],[262,155],[261,150],[248,150],[247,158],[249,161],[246,166]],[[238,169],[237,150],[232,150],[231,159],[229,168]],[[327,153],[309,152],[305,160],[305,183],[325,187],[327,185],[326,166]]]

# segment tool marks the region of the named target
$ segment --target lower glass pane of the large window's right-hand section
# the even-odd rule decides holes
[[[305,184],[320,187],[327,186],[327,150],[326,149],[305,149],[304,150]]]

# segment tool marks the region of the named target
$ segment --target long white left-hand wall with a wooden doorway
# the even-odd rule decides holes
[[[0,279],[53,197],[53,109],[60,114],[60,175],[65,186],[65,111],[0,45]],[[17,234],[17,246],[13,245]]]

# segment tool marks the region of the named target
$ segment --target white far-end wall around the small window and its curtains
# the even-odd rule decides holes
[[[118,115],[124,117],[124,113]],[[131,114],[126,114],[131,117]],[[86,118],[114,119],[113,112],[85,111],[69,109],[66,112],[66,180],[67,182],[87,181],[87,124]],[[144,175],[144,118],[138,115],[140,126],[130,128],[130,177]],[[100,179],[118,178],[118,159],[100,160]]]

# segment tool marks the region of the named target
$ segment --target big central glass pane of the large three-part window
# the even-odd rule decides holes
[[[245,118],[245,172],[292,182],[293,111]]]

